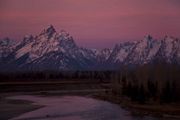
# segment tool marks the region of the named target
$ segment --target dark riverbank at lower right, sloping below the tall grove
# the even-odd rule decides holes
[[[93,97],[118,104],[135,116],[151,115],[160,118],[172,118],[173,120],[180,119],[179,104],[138,104],[136,102],[122,100],[120,97],[114,97],[106,94],[94,95]]]

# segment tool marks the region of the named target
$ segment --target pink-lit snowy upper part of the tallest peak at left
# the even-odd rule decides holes
[[[77,47],[68,32],[61,30],[58,33],[52,25],[44,29],[41,34],[36,37],[26,36],[21,44],[24,42],[26,44],[16,52],[16,58],[28,54],[28,62],[52,52],[65,53]]]

